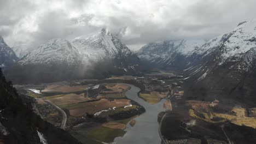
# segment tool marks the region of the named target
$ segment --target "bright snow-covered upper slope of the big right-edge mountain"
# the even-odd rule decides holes
[[[253,47],[256,47],[256,20],[240,23],[232,32],[208,41],[194,53],[205,57],[218,49],[219,64],[222,64],[230,57],[245,53]]]

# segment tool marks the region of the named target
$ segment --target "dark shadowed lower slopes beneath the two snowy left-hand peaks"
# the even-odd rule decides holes
[[[102,58],[92,65],[76,64],[16,64],[4,71],[8,80],[13,83],[49,83],[79,79],[105,79],[110,75],[138,75],[140,68],[126,68],[127,64],[119,63],[116,59]],[[125,70],[124,70],[125,69]]]

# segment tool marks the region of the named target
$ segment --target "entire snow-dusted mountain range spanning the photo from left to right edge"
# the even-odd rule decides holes
[[[6,53],[5,57],[1,57],[5,59],[0,61],[1,65],[3,62],[7,65],[18,61],[3,38],[1,50]],[[49,40],[19,59],[18,67],[26,70],[16,68],[12,71],[25,75],[36,69],[37,73],[30,75],[34,78],[39,74],[41,77],[47,77],[51,73],[56,75],[61,70],[62,75],[57,80],[66,76],[79,79],[80,75],[90,74],[102,77],[111,73],[136,74],[141,62],[149,69],[156,67],[181,71],[188,83],[187,91],[194,93],[189,97],[195,95],[199,99],[211,100],[232,97],[250,104],[254,100],[252,95],[256,92],[256,86],[253,85],[255,51],[255,20],[241,22],[230,33],[208,41],[158,41],[143,46],[136,53],[106,29],[102,29],[90,37],[78,37],[72,41]],[[45,67],[49,70],[45,70]],[[85,69],[89,71],[85,72]],[[28,77],[20,81],[25,78]]]

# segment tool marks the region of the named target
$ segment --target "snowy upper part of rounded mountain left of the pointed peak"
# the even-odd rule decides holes
[[[51,39],[22,57],[19,64],[74,65],[82,62],[82,59],[78,50],[68,40]]]

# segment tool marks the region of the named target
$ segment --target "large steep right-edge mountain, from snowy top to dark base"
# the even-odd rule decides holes
[[[242,22],[232,32],[200,47],[197,63],[184,67],[191,95],[203,99],[234,99],[255,106],[256,21]],[[200,63],[198,63],[200,62]],[[197,91],[196,91],[197,89]]]

